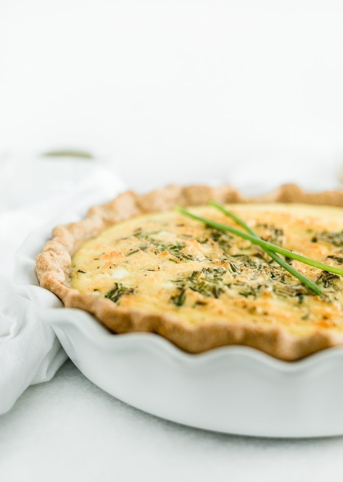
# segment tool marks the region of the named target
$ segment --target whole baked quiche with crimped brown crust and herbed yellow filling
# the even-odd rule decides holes
[[[316,292],[258,244],[175,209],[237,228],[209,200],[259,239],[343,269],[341,191],[287,184],[248,198],[228,185],[171,185],[124,192],[54,228],[38,280],[114,334],[156,333],[192,354],[245,345],[292,361],[342,346],[343,277],[280,255]]]

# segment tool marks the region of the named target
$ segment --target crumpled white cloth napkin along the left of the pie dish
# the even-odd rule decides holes
[[[31,231],[73,211],[80,199],[87,199],[86,211],[92,203],[105,202],[126,189],[109,166],[97,161],[15,159],[11,170],[6,168],[2,173],[0,168],[0,414],[29,385],[49,381],[67,359],[53,330],[39,321],[34,303],[14,288],[17,249]],[[13,193],[18,169],[25,175]],[[5,209],[6,203],[10,209]]]

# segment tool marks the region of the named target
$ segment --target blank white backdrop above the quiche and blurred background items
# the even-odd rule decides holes
[[[135,188],[343,163],[339,0],[1,0],[0,45],[0,151],[88,149]]]

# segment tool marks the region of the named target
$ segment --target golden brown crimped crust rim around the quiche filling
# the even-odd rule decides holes
[[[297,360],[332,346],[343,345],[343,335],[320,331],[311,337],[295,338],[286,330],[260,330],[242,322],[240,327],[222,325],[186,329],[168,315],[151,316],[131,312],[107,299],[81,294],[70,287],[71,257],[80,243],[95,236],[107,226],[133,216],[183,206],[205,204],[209,199],[221,203],[307,203],[343,207],[343,191],[308,193],[294,184],[285,184],[258,197],[244,197],[230,185],[170,185],[147,194],[126,191],[113,201],[91,207],[79,222],[53,229],[52,239],[36,258],[36,274],[40,285],[56,294],[67,307],[81,308],[95,315],[117,333],[146,331],[160,334],[189,353],[201,353],[226,345],[245,345],[282,360]]]

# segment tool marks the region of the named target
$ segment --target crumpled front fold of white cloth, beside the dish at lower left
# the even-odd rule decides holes
[[[54,332],[41,323],[34,304],[0,279],[0,413],[28,385],[49,381],[67,359]],[[6,333],[7,332],[7,333]]]

